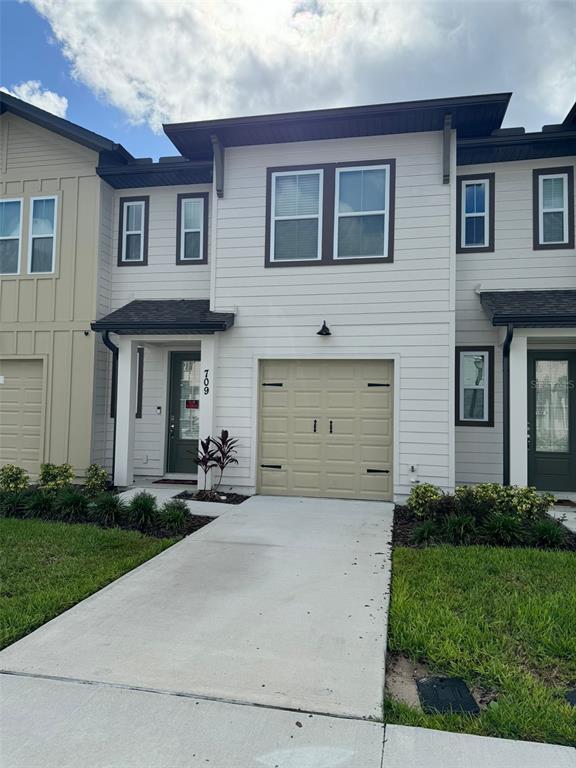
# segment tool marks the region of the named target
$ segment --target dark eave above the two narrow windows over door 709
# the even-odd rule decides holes
[[[96,172],[115,189],[212,183],[212,161],[191,161],[186,158],[178,158],[173,162],[163,160],[158,163],[131,162],[122,166],[99,165]]]

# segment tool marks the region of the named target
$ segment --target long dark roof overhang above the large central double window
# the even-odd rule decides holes
[[[183,155],[194,159],[212,158],[213,136],[224,147],[237,147],[441,131],[447,114],[459,135],[486,136],[502,124],[510,97],[498,93],[173,123],[164,125],[164,132]]]

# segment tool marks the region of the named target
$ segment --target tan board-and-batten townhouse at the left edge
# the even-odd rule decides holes
[[[101,162],[123,147],[0,93],[0,463],[91,462]],[[100,342],[98,341],[100,345]]]

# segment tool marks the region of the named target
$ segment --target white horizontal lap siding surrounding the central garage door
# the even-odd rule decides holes
[[[384,158],[396,160],[393,263],[264,267],[267,168]],[[236,311],[214,378],[216,430],[240,438],[227,483],[256,487],[260,360],[372,358],[395,362],[395,496],[410,491],[412,465],[422,481],[451,487],[450,200],[441,133],[226,149],[213,291],[215,310]],[[330,337],[316,335],[323,320]]]

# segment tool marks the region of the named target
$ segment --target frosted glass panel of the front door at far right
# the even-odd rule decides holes
[[[568,360],[536,361],[536,450],[570,450]]]

